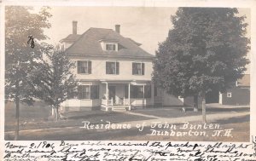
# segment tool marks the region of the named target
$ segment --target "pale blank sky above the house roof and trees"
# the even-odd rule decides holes
[[[38,8],[39,9],[39,8]],[[35,9],[37,10],[37,9]],[[73,20],[78,21],[78,34],[90,27],[113,29],[120,25],[120,34],[131,37],[149,54],[155,55],[158,44],[166,40],[172,29],[171,15],[177,8],[172,7],[51,7],[49,19],[51,28],[44,31],[49,37],[47,43],[57,44],[73,32]],[[246,15],[247,37],[250,37],[250,9],[239,9],[239,16]],[[249,54],[247,58],[250,58]],[[247,66],[247,73],[250,71]]]

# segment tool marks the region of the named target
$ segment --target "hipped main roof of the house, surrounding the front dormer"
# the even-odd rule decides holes
[[[119,50],[104,51],[101,41],[116,42],[119,44]],[[66,49],[66,52],[69,55],[154,58],[154,55],[148,54],[148,52],[138,47],[138,44],[131,38],[122,37],[112,29],[90,28],[79,36],[73,45]]]

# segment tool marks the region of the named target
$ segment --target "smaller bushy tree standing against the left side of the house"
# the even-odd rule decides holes
[[[54,110],[56,121],[61,103],[77,94],[74,67],[75,63],[69,60],[67,53],[57,47],[44,56],[44,63],[38,66],[38,74],[32,79],[38,84],[35,94]]]

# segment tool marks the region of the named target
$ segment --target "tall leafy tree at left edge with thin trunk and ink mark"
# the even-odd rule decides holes
[[[16,106],[15,140],[19,137],[20,102],[32,105],[32,75],[34,69],[50,46],[42,43],[47,39],[44,29],[49,28],[48,8],[32,13],[32,8],[7,6],[5,8],[5,98]],[[34,37],[34,48],[28,37]]]

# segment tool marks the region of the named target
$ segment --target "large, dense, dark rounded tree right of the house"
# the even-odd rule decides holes
[[[246,71],[247,23],[238,14],[238,9],[179,8],[156,52],[154,82],[172,95],[201,95],[203,122],[207,92],[224,92]]]

